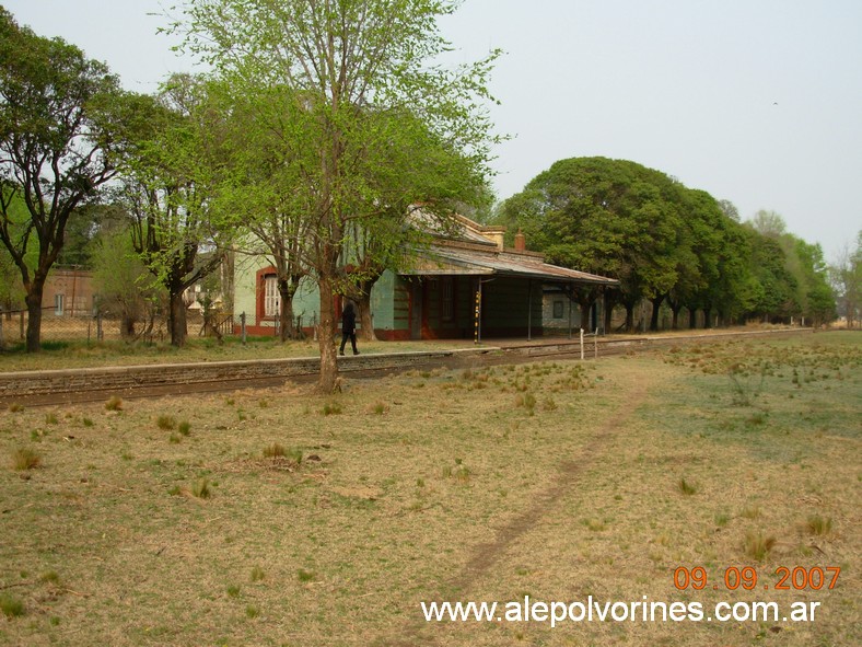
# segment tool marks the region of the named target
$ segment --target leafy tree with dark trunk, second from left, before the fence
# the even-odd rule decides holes
[[[218,123],[206,84],[174,77],[141,104],[138,146],[124,163],[120,196],[132,217],[132,244],[168,296],[171,344],[186,342],[184,292],[214,271],[221,230],[212,210]],[[207,249],[211,253],[200,254]]]

